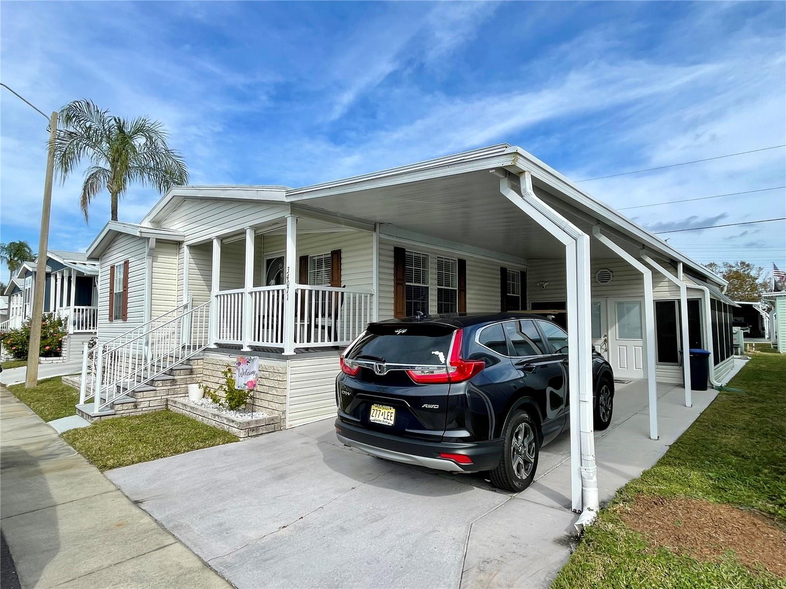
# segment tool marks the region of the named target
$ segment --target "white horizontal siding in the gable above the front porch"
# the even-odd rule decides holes
[[[163,219],[161,226],[185,233],[185,243],[196,243],[249,225],[283,218],[288,205],[219,199],[185,199]]]

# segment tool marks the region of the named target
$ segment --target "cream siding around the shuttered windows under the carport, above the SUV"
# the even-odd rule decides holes
[[[380,320],[393,317],[393,248],[409,248],[411,251],[421,251],[429,254],[430,272],[433,287],[429,289],[429,309],[436,311],[436,258],[461,258],[467,261],[467,313],[499,313],[499,272],[500,267],[524,269],[523,265],[510,262],[492,262],[484,258],[474,258],[456,252],[448,252],[436,247],[410,243],[396,242],[395,240],[380,238]]]

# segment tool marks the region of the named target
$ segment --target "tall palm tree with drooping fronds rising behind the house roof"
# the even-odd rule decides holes
[[[66,104],[60,120],[64,128],[57,130],[55,166],[61,181],[82,159],[90,160],[79,198],[85,220],[90,201],[104,188],[112,198],[112,221],[117,221],[117,201],[131,182],[163,194],[189,180],[182,155],[169,148],[159,121],[121,119],[89,100]]]

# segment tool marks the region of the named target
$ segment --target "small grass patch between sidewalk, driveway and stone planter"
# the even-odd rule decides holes
[[[170,411],[105,419],[69,430],[63,438],[101,470],[237,441],[228,432]]]

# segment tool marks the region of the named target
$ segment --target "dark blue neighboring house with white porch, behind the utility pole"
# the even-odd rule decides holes
[[[9,296],[9,318],[0,324],[0,331],[17,329],[30,319],[36,264],[36,261],[24,262],[9,281],[4,293]],[[59,250],[47,252],[43,310],[67,320],[68,336],[64,338],[62,355],[68,360],[79,360],[83,343],[96,335],[97,276],[97,262],[88,262],[86,254]]]

